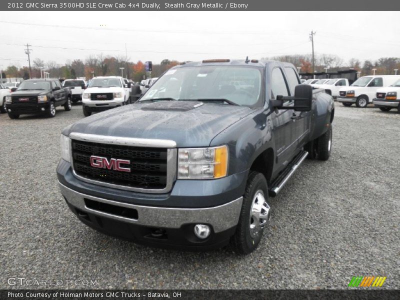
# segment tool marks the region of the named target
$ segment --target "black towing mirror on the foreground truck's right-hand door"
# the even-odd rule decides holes
[[[283,102],[294,100],[293,106],[283,106]],[[294,109],[295,111],[309,111],[312,104],[312,87],[308,84],[298,84],[294,88],[293,96],[277,95],[272,100],[272,106],[278,109]]]

